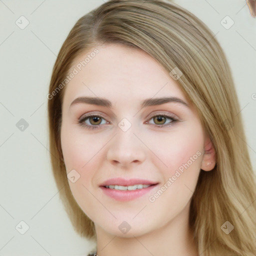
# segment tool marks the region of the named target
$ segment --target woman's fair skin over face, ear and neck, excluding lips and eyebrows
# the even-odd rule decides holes
[[[196,256],[189,205],[200,168],[209,171],[215,165],[212,143],[196,110],[158,62],[142,50],[124,46],[97,49],[64,88],[60,133],[66,173],[75,169],[80,175],[74,183],[68,180],[69,186],[94,222],[97,254]],[[81,54],[70,70],[87,54]],[[103,97],[112,108],[84,102],[70,106],[85,96]],[[140,108],[142,100],[156,97],[176,97],[187,105],[171,101]],[[96,129],[78,123],[87,114],[100,116],[82,120]],[[131,124],[125,131],[118,126],[123,118],[124,127]],[[173,177],[184,163],[188,166]],[[155,185],[139,197],[117,200],[100,187],[113,177],[147,179]],[[171,185],[166,185],[171,177]],[[153,196],[164,184],[165,190]],[[123,221],[130,227],[126,233],[119,227]]]

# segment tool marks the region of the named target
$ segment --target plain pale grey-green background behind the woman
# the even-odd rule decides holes
[[[245,0],[174,2],[217,33],[232,69],[255,171],[256,19]],[[68,32],[102,3],[0,0],[0,255],[86,255],[92,246],[74,232],[58,197],[47,149],[46,94]],[[24,29],[15,24],[21,15],[29,21]],[[234,21],[229,29],[221,24],[226,15]],[[23,131],[16,127],[21,118],[29,124]],[[29,226],[24,234],[15,229],[21,220]]]

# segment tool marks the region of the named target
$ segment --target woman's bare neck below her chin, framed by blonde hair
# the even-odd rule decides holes
[[[186,209],[168,223],[139,236],[136,236],[134,232],[129,237],[120,237],[109,234],[95,225],[97,255],[198,255],[192,231],[188,225],[188,208],[189,204]]]

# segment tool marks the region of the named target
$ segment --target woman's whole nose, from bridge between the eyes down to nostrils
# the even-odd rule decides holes
[[[107,151],[109,161],[126,165],[145,159],[145,147],[134,133],[137,133],[136,125],[123,118],[116,127],[116,134]]]

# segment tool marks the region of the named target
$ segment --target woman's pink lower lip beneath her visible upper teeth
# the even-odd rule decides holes
[[[154,184],[145,188],[135,189],[135,190],[118,190],[118,189],[106,188],[104,186],[100,186],[100,188],[106,195],[108,195],[109,197],[117,201],[130,201],[148,193],[156,185],[157,184]]]

